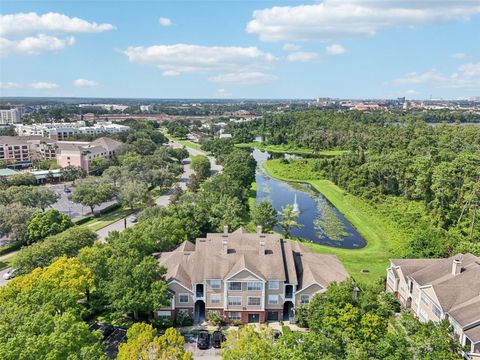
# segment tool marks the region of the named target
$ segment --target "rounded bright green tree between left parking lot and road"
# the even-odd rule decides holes
[[[58,210],[37,211],[28,223],[28,241],[35,242],[55,235],[73,226],[70,218]]]

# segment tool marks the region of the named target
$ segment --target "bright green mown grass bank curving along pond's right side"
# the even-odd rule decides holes
[[[337,255],[347,271],[359,282],[371,283],[385,276],[388,259],[402,248],[406,241],[401,229],[385,220],[374,206],[346,193],[329,180],[316,180],[312,177],[302,179],[298,174],[308,172],[293,170],[290,170],[291,176],[288,176],[288,169],[291,166],[292,163],[282,164],[279,160],[269,160],[263,164],[267,173],[276,179],[311,184],[345,215],[367,241],[367,245],[362,249],[339,249],[313,243],[305,244],[320,253]],[[368,272],[364,272],[365,270]]]

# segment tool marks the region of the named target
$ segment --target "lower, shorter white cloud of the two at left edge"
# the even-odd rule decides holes
[[[13,54],[34,55],[42,52],[61,50],[73,44],[75,44],[75,38],[73,37],[59,39],[55,36],[44,34],[29,36],[21,40],[0,38],[0,56],[9,56]]]

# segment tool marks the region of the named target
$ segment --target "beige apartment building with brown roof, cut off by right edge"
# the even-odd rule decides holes
[[[448,319],[453,336],[480,359],[480,258],[458,254],[448,259],[394,259],[386,290],[420,321]]]

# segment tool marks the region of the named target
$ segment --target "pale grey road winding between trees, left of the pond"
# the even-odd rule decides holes
[[[183,147],[182,145],[180,145],[178,143],[175,143],[175,142],[171,142],[171,146],[173,146],[173,147]],[[195,149],[192,149],[192,148],[189,148],[189,147],[187,147],[186,149],[188,150],[190,155],[205,155],[205,153],[203,151],[200,151],[200,150],[195,150]],[[222,171],[222,166],[217,165],[217,163],[215,162],[215,158],[209,156],[208,159],[210,160],[212,173]],[[192,174],[193,174],[193,170],[190,166],[190,159],[184,159],[183,160],[183,174],[182,174],[180,180],[178,180],[178,184],[180,185],[182,190],[185,190],[187,188],[188,179],[189,179],[190,175],[192,175]],[[158,206],[167,206],[168,204],[170,204],[170,196],[171,196],[171,191],[168,191],[166,194],[157,198],[155,200],[155,203]],[[125,219],[120,219],[120,220],[118,220],[118,221],[116,221],[116,222],[98,230],[97,231],[98,239],[100,241],[104,241],[105,238],[108,236],[108,233],[110,231],[114,231],[114,230],[123,231],[126,228],[135,225],[135,223],[132,222],[133,217],[134,217],[134,214],[129,215],[126,218],[127,219],[126,223],[125,223]]]

